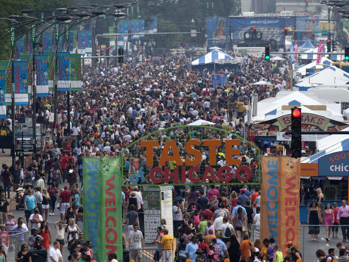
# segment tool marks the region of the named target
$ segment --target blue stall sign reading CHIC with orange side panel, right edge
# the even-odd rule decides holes
[[[349,151],[340,151],[319,158],[318,163],[301,163],[301,175],[311,177],[348,177]]]

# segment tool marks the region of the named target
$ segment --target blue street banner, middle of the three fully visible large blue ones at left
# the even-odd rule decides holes
[[[36,96],[48,96],[48,56],[35,55]]]

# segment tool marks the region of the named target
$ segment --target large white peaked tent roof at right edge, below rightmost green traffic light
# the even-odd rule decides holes
[[[297,87],[313,87],[320,84],[346,84],[349,82],[349,74],[336,66],[327,67],[316,72],[296,84]],[[303,91],[299,89],[300,91]]]

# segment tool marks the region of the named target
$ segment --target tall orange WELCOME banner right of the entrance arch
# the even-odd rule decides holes
[[[284,255],[299,248],[300,159],[262,157],[260,239],[274,238]]]

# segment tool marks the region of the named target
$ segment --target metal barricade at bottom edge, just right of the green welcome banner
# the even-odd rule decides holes
[[[162,251],[162,252],[161,252]],[[162,253],[160,257],[160,253]],[[124,262],[129,262],[131,259],[137,261],[140,258],[142,262],[173,262],[174,252],[168,250],[158,249],[124,249],[123,250]]]

